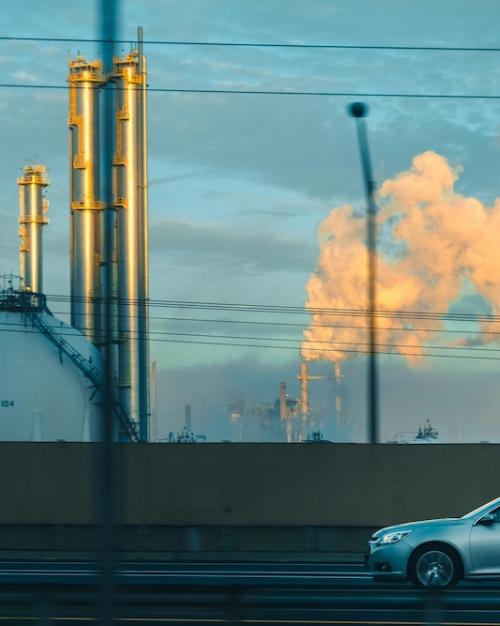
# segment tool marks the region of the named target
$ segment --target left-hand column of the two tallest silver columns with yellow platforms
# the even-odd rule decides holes
[[[96,345],[100,332],[100,262],[104,204],[99,200],[100,61],[69,64],[71,324]]]

